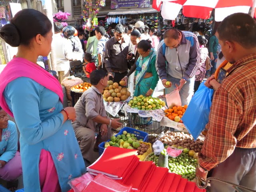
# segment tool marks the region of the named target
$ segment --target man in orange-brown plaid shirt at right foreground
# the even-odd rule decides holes
[[[198,154],[196,176],[209,176],[256,190],[256,24],[236,13],[220,24],[218,40],[232,66],[214,93],[208,133]],[[211,180],[211,192],[234,192]]]

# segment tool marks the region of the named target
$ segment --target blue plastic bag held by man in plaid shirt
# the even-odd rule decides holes
[[[192,97],[182,121],[194,140],[204,130],[209,120],[210,107],[212,105],[213,89],[210,89],[202,82]]]

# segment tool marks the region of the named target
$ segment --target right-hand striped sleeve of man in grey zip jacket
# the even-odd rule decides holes
[[[185,71],[185,74],[183,75],[183,78],[185,80],[188,80],[189,78],[193,77],[196,74],[196,70],[199,67],[200,64],[200,48],[198,43],[198,38],[195,34],[193,34],[194,44],[193,46],[190,46],[189,51],[189,61],[187,65],[187,70]]]

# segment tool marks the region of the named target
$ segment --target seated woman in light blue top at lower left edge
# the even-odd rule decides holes
[[[15,189],[17,178],[22,174],[18,134],[14,122],[9,121],[7,113],[0,107],[0,178],[8,181],[8,188]]]

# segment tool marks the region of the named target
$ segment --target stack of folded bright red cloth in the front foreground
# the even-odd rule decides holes
[[[134,192],[206,192],[180,175],[156,167],[152,161],[140,162],[137,150],[108,147],[87,170],[104,174],[120,184],[132,186]],[[136,190],[137,189],[137,190]],[[95,190],[94,190],[95,191]]]

